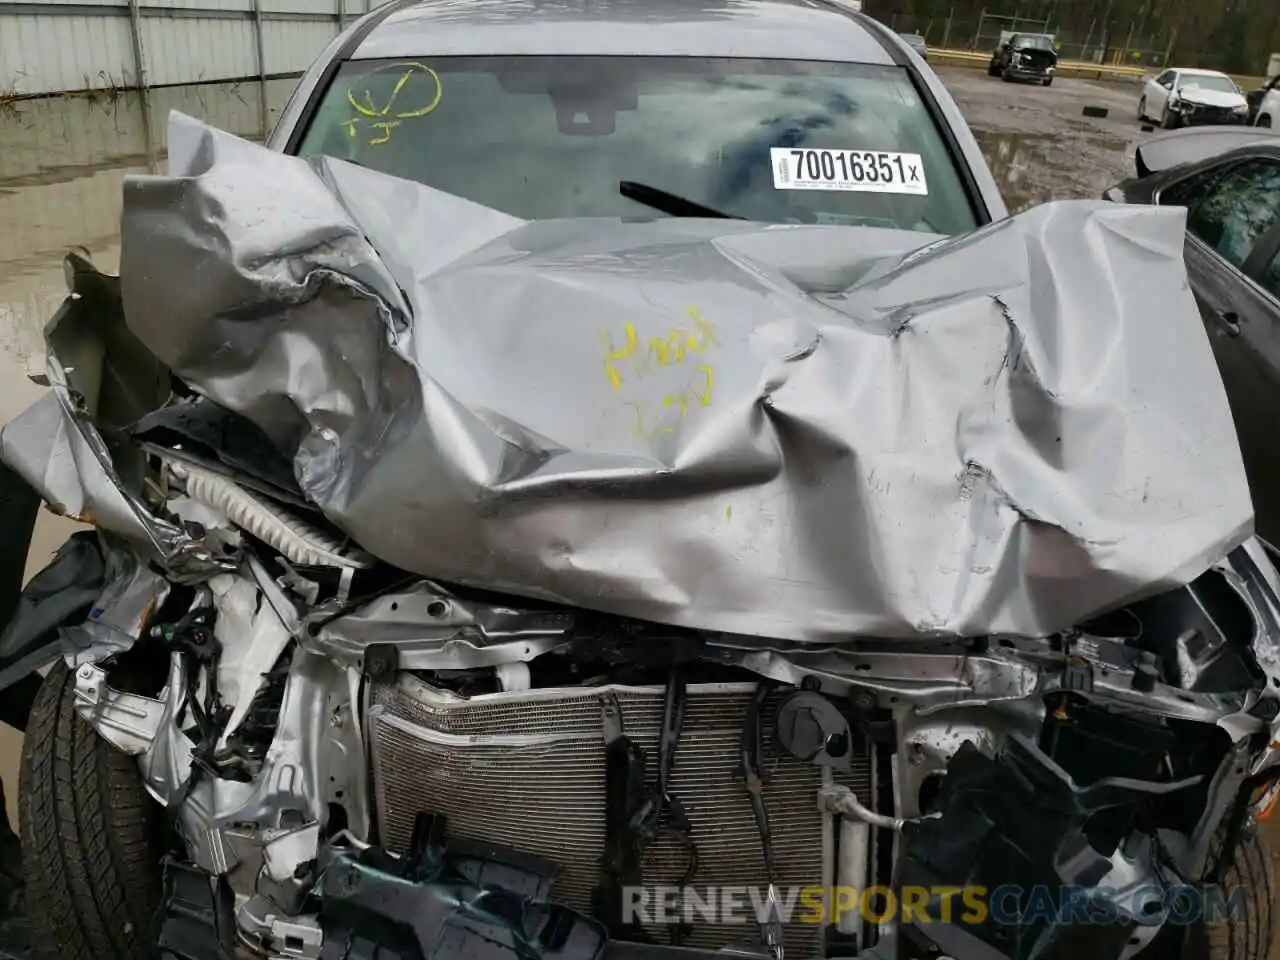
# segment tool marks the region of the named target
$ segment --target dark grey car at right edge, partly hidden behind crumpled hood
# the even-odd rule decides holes
[[[1217,357],[1260,536],[1280,544],[1280,134],[1183,131],[1138,147],[1125,204],[1187,207],[1187,271]]]

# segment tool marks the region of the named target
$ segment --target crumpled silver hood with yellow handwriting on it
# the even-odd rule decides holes
[[[803,641],[1043,635],[1252,529],[1179,210],[1050,204],[904,259],[169,142],[125,184],[131,329],[406,570]]]

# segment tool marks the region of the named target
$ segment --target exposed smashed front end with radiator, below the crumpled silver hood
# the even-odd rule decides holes
[[[221,936],[271,957],[357,957],[342,945],[393,929],[430,955],[385,906],[406,878],[476,950],[493,893],[540,905],[502,914],[508,934],[554,927],[584,957],[974,940],[1128,957],[1178,934],[1171,897],[1221,881],[1274,781],[1276,573],[1257,541],[1069,634],[910,649],[788,649],[246,557],[206,585],[156,579],[137,644],[73,658],[81,716],[173,813],[178,957],[207,955],[173,919],[192,914],[183,872],[224,890]],[[1037,897],[1053,913],[1028,922]],[[1064,904],[1108,922],[1062,923]]]

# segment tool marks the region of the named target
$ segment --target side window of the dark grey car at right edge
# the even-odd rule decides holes
[[[1187,229],[1243,269],[1254,244],[1280,223],[1280,164],[1248,160],[1175,184],[1160,202],[1185,206]]]

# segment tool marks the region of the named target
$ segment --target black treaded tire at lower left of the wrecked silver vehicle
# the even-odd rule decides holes
[[[58,660],[31,708],[19,829],[37,956],[145,960],[160,905],[160,808],[137,763],[82,721]]]

